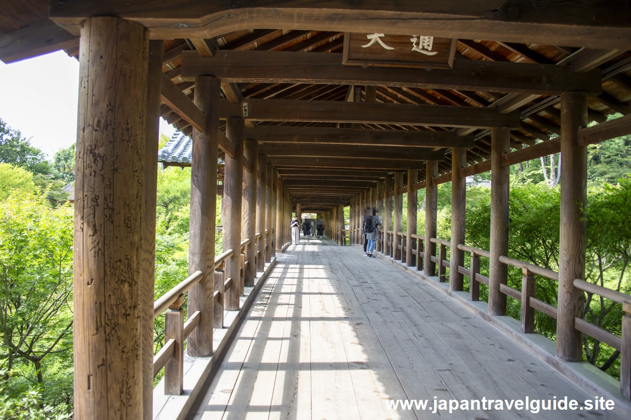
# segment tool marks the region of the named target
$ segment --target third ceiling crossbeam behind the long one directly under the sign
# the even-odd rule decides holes
[[[420,148],[387,146],[348,146],[346,144],[328,144],[305,146],[303,144],[262,143],[259,152],[268,156],[319,156],[348,159],[387,159],[387,160],[438,160],[445,155],[444,149],[432,151]]]

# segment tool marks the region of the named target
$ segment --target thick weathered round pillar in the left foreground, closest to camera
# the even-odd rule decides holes
[[[142,419],[148,32],[133,21],[89,18],[81,45],[74,412]]]

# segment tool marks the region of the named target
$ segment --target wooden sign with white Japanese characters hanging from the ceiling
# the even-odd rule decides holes
[[[451,69],[456,41],[424,35],[346,32],[342,64]]]

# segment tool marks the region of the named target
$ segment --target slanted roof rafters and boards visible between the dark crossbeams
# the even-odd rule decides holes
[[[313,52],[341,55],[343,44],[341,32],[319,32],[307,30],[242,30],[230,32],[211,40],[218,50],[242,51],[284,51]],[[212,45],[211,44],[211,45]],[[165,41],[163,71],[187,95],[194,92],[194,83],[181,77],[182,51],[198,49],[196,43],[186,39]],[[198,49],[199,51],[199,49]],[[575,71],[588,71],[599,68],[603,74],[602,93],[589,98],[589,119],[596,122],[606,120],[608,114],[620,112],[629,114],[631,107],[631,54],[629,52],[589,50],[556,45],[525,45],[490,40],[458,40],[457,59],[495,62],[520,62],[538,64],[569,64]],[[340,57],[341,60],[341,57]],[[227,85],[227,84],[224,84]],[[333,101],[344,102],[351,93],[351,85],[317,85],[312,83],[230,83],[222,86],[228,95],[241,95],[244,99],[296,100],[296,101]],[[365,86],[362,98],[365,100]],[[510,103],[517,95],[490,91],[447,90],[408,88],[401,86],[377,86],[376,102],[437,105],[441,107],[478,107],[493,108],[500,103]],[[504,98],[504,99],[503,99]],[[236,101],[235,101],[236,102]],[[280,103],[280,102],[279,102]],[[495,105],[493,105],[495,103]],[[519,129],[510,132],[513,149],[522,149],[540,141],[548,141],[551,136],[560,134],[560,100],[558,96],[533,95],[528,101],[517,107],[521,114]],[[167,106],[162,107],[162,117],[184,132],[191,132],[192,127]],[[292,122],[265,120],[257,123],[258,127],[350,127],[350,124],[338,122]],[[439,125],[408,124],[353,124],[362,129],[385,129],[391,131],[430,131],[450,132],[454,127]],[[490,157],[490,129],[475,129],[475,146],[468,149],[469,165],[480,163]],[[263,139],[261,139],[263,140]],[[273,143],[272,143],[273,144]],[[276,144],[278,146],[278,144]],[[304,146],[304,145],[303,145]],[[311,145],[309,145],[311,146]],[[269,146],[266,146],[270,149]],[[295,161],[300,166],[302,158],[276,158],[281,163]],[[313,160],[315,162],[315,158]],[[353,165],[351,165],[353,166]],[[420,166],[423,166],[422,164]],[[289,167],[289,165],[287,165]],[[319,166],[315,166],[316,168]],[[283,170],[280,171],[283,176]],[[451,152],[447,150],[445,160],[439,163],[439,173],[451,172]],[[319,177],[320,175],[315,175]],[[350,175],[349,175],[350,176]],[[304,177],[304,175],[301,175]],[[348,177],[343,177],[347,179]],[[334,178],[331,178],[333,180]],[[355,178],[353,178],[355,179]],[[371,178],[357,178],[369,180]],[[425,171],[419,170],[419,180],[425,179]]]

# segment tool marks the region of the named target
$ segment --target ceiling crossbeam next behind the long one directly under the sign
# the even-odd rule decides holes
[[[247,117],[242,104],[247,103]],[[492,108],[440,107],[401,103],[332,102],[248,99],[242,104],[221,101],[221,117],[268,121],[360,122],[446,127],[519,128],[519,113],[500,114]]]

